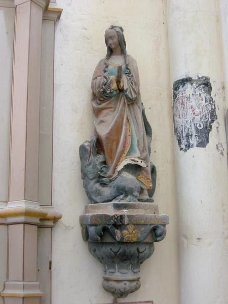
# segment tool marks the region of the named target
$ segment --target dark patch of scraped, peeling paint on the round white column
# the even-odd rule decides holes
[[[212,123],[217,119],[209,77],[191,77],[173,84],[174,132],[180,150],[206,147]]]

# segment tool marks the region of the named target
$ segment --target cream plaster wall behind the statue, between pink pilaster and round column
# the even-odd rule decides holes
[[[52,234],[52,303],[112,301],[102,288],[102,267],[82,240],[83,189],[79,146],[93,133],[90,83],[105,56],[104,31],[123,26],[127,50],[138,62],[141,95],[153,127],[151,159],[158,169],[155,204],[169,214],[166,239],[142,264],[141,288],[127,300],[178,304],[177,216],[166,1],[59,0],[54,84],[53,206],[62,212]],[[121,301],[121,300],[120,300]],[[122,300],[124,301],[124,300]]]

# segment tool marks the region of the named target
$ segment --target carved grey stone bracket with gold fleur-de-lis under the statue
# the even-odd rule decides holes
[[[103,288],[122,298],[139,289],[140,264],[165,238],[169,217],[151,203],[103,203],[87,205],[80,223],[90,253],[103,264]]]

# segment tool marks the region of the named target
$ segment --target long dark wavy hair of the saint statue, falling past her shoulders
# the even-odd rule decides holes
[[[124,56],[125,65],[126,65],[126,70],[127,70],[126,75],[128,76],[131,84],[133,85],[133,80],[132,80],[133,75],[132,75],[130,67],[128,65],[128,57],[127,57],[127,50],[126,50],[126,41],[125,41],[125,37],[124,37],[124,29],[123,29],[122,26],[117,26],[117,25],[111,25],[108,29],[106,29],[106,31],[108,31],[109,29],[113,29],[117,33],[118,41],[119,41],[121,51],[122,51],[122,54]],[[105,31],[105,33],[106,33],[106,31]],[[104,40],[105,40],[105,44],[107,46],[107,54],[104,58],[104,68],[103,68],[104,81],[101,85],[101,91],[106,91],[107,93],[109,93],[110,91],[112,91],[112,84],[111,84],[110,77],[108,75],[108,59],[112,55],[112,49],[108,46],[105,34],[104,34]]]

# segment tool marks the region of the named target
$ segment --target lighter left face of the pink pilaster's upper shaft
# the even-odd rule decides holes
[[[28,85],[30,3],[17,8],[14,48],[10,200],[23,200]]]

